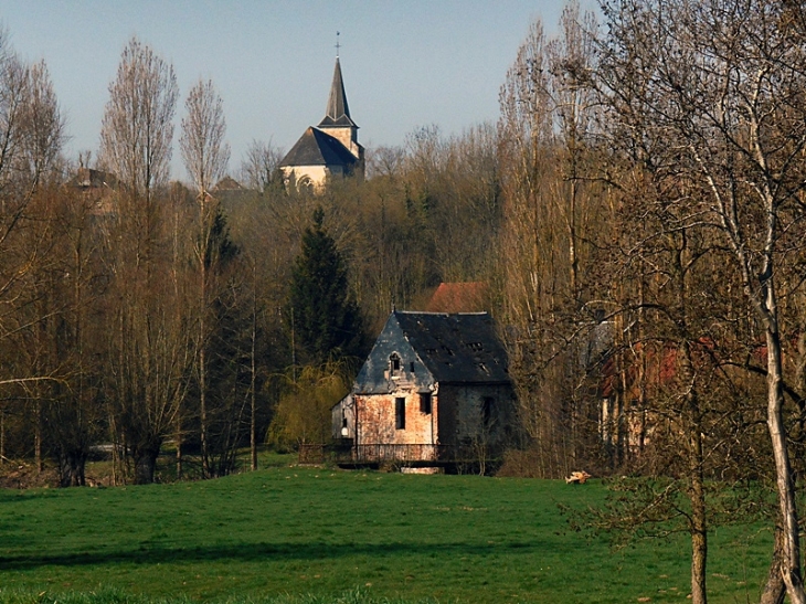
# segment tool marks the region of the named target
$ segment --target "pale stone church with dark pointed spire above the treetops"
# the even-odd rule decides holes
[[[329,177],[363,174],[364,148],[350,117],[341,64],[336,57],[327,112],[318,126],[309,127],[280,160],[287,182],[319,189]]]

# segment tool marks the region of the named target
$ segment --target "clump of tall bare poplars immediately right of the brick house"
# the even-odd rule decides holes
[[[521,418],[542,476],[568,475],[597,447],[573,340],[595,328],[593,312],[584,316],[592,292],[581,275],[591,273],[588,248],[608,235],[605,197],[591,184],[595,61],[585,27],[594,21],[571,3],[561,27],[547,40],[542,23],[531,24],[499,94],[502,311],[512,326]]]

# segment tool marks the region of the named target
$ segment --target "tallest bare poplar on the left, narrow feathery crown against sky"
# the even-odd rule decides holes
[[[177,94],[171,65],[132,39],[109,85],[100,134],[102,161],[121,182],[105,254],[117,300],[107,312],[110,424],[134,459],[138,483],[153,480],[189,367],[187,319],[169,312],[184,308],[182,292],[171,284],[173,272],[159,269],[171,262],[170,246],[160,245],[160,194],[170,169]]]

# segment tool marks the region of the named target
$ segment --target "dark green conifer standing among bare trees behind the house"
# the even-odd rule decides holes
[[[348,290],[347,266],[322,226],[324,219],[325,212],[318,208],[312,227],[303,235],[290,290],[297,346],[304,360],[316,363],[357,357],[363,342],[359,309]]]

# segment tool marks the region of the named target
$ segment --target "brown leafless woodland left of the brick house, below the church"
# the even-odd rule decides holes
[[[317,194],[288,189],[279,151],[255,141],[234,172],[244,188],[227,190],[213,84],[189,93],[174,136],[173,70],[131,40],[91,169],[89,153],[63,157],[44,66],[2,44],[2,460],[50,459],[63,486],[83,485],[103,451],[116,483],[150,483],[167,448],[177,476],[198,478],[232,471],[250,445],[254,467],[266,438],[327,439],[329,406],[392,306],[491,263],[492,126],[422,128],[377,150],[367,181]],[[185,184],[170,180],[174,139]],[[332,299],[305,287],[322,268]]]

